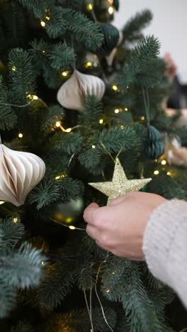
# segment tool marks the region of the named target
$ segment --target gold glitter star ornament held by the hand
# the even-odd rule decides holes
[[[145,187],[145,185],[151,181],[151,178],[128,180],[120,160],[117,159],[113,172],[113,180],[111,182],[96,182],[89,183],[89,185],[108,196],[108,204],[110,204],[113,199],[128,194],[128,192],[138,192],[142,187]]]

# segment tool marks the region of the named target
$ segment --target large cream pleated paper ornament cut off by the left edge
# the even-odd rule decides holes
[[[0,144],[0,200],[24,204],[28,193],[45,175],[45,163],[33,153],[14,151]]]

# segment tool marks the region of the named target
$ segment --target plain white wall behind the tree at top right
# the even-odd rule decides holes
[[[150,9],[154,15],[146,34],[154,34],[162,43],[161,55],[170,52],[178,66],[183,84],[187,84],[187,1],[186,0],[120,0],[115,26],[121,28],[137,11]]]

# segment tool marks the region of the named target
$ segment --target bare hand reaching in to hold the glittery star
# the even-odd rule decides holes
[[[143,236],[149,215],[166,199],[133,192],[114,199],[109,206],[92,203],[84,211],[86,232],[99,247],[114,255],[144,260]]]

